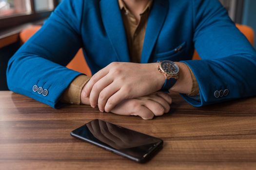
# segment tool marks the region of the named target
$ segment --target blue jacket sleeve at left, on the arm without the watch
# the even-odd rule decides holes
[[[82,10],[83,0],[64,0],[59,4],[42,28],[9,60],[10,90],[54,108],[61,106],[61,94],[81,74],[65,66],[82,44]]]

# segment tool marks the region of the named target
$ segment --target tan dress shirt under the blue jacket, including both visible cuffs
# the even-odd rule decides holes
[[[147,21],[152,6],[153,0],[149,0],[146,8],[140,14],[140,20],[137,21],[136,17],[129,11],[123,0],[118,0],[121,15],[123,19],[126,37],[128,41],[129,54],[133,63],[140,63],[140,56],[143,48],[144,37],[146,33]],[[188,67],[188,66],[187,66]],[[195,96],[199,93],[197,80],[188,67],[193,80],[193,87],[189,96]],[[157,71],[157,68],[156,68]],[[61,102],[72,104],[80,104],[80,94],[83,86],[89,81],[90,77],[85,75],[78,76],[63,93]]]

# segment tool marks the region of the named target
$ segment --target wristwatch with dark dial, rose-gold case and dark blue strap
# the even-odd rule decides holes
[[[179,68],[177,64],[169,60],[159,61],[158,63],[158,71],[165,77],[165,82],[161,90],[164,92],[169,92],[168,90],[176,83],[178,79]]]

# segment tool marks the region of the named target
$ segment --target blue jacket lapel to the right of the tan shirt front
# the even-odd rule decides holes
[[[155,47],[159,32],[168,13],[168,0],[154,0],[149,14],[146,34],[141,54],[141,63],[148,63],[150,55]]]

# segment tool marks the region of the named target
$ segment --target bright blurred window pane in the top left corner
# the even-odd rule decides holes
[[[30,13],[30,0],[0,0],[0,17]]]

